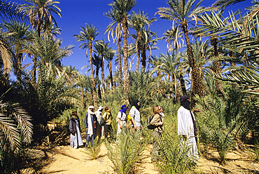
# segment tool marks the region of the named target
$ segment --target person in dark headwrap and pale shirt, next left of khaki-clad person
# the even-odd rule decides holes
[[[140,102],[139,100],[134,100],[132,102],[132,109],[130,109],[130,119],[132,119],[132,128],[137,131],[140,128],[143,128],[141,125],[141,117],[140,117]]]

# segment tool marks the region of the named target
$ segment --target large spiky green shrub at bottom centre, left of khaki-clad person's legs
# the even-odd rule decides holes
[[[109,159],[115,166],[114,170],[120,174],[131,173],[135,163],[141,159],[141,152],[146,147],[141,140],[141,131],[123,129],[115,144],[106,141]]]

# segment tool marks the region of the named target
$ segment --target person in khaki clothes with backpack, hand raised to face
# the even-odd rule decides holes
[[[161,139],[162,133],[164,132],[164,116],[160,114],[162,112],[162,107],[156,105],[153,107],[153,119],[151,120],[151,124],[157,126],[153,130],[153,149],[151,153],[151,161],[157,162],[158,161],[158,141]]]

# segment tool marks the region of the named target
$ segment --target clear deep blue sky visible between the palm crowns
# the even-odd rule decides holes
[[[85,69],[81,70],[81,67],[85,65],[90,65],[85,57],[86,50],[80,49],[80,42],[76,42],[76,39],[73,37],[73,34],[79,34],[81,31],[80,27],[85,27],[85,23],[90,25],[94,25],[97,27],[97,31],[99,34],[97,36],[97,40],[105,39],[105,42],[108,42],[107,34],[104,34],[106,27],[109,25],[111,20],[104,16],[104,12],[108,12],[113,0],[59,0],[60,4],[58,4],[59,8],[61,8],[62,18],[59,18],[57,15],[54,15],[55,20],[57,21],[57,25],[62,29],[62,34],[57,36],[58,38],[63,40],[62,47],[64,46],[75,46],[73,49],[73,54],[69,58],[65,58],[62,61],[63,65],[71,65],[72,67],[76,67],[82,74],[85,73]],[[25,1],[16,1],[18,4],[23,4]],[[202,2],[202,6],[211,6],[214,1],[204,0]],[[230,6],[228,11],[236,11],[239,9],[244,9],[246,6],[251,6],[251,0],[247,0],[241,2],[239,4],[235,4],[234,6]],[[167,7],[166,0],[138,0],[137,5],[132,8],[132,11],[144,11],[144,13],[148,13],[149,18],[158,18],[158,21],[153,22],[151,25],[151,31],[157,32],[158,36],[161,37],[163,33],[167,29],[170,28],[172,22],[167,20],[162,20],[159,18],[159,15],[155,15],[155,12],[158,11],[159,7]],[[225,12],[227,15],[227,12]],[[130,34],[134,32],[130,30]],[[128,41],[132,41],[130,38]],[[118,46],[110,42],[110,47],[113,47],[117,50]],[[165,44],[165,40],[160,40],[157,46],[160,48],[158,51],[152,51],[152,55],[159,55],[159,53],[166,53],[167,46]],[[88,51],[89,54],[89,51]],[[149,55],[149,53],[147,53]],[[114,58],[115,60],[115,58]],[[29,58],[25,59],[24,64],[30,63],[31,60]],[[136,58],[134,58],[134,64],[136,62]],[[106,66],[106,65],[105,65]],[[113,71],[115,70],[115,65],[113,63]],[[133,67],[133,69],[135,69]],[[88,73],[89,74],[89,73]],[[106,75],[108,72],[106,72]]]

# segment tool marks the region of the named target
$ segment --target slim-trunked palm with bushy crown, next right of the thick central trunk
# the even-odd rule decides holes
[[[132,15],[130,16],[130,26],[132,29],[136,31],[136,52],[137,52],[137,64],[136,71],[139,71],[139,58],[141,51],[141,34],[144,34],[144,38],[147,37],[145,32],[145,27],[150,26],[152,22],[157,20],[156,18],[148,19],[148,13],[144,14],[144,11],[138,11],[138,13],[132,11]],[[147,39],[147,38],[146,38]]]

